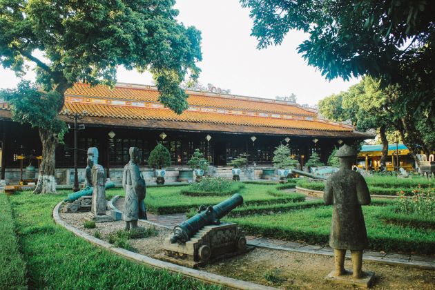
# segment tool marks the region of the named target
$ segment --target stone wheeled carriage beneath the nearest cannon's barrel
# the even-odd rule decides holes
[[[169,236],[164,240],[163,249],[164,253],[155,256],[157,259],[195,269],[209,262],[246,253],[253,247],[247,247],[244,232],[237,224],[222,222],[204,226],[186,244],[171,244]]]

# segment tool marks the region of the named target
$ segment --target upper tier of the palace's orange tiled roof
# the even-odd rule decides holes
[[[194,91],[188,91],[188,93],[189,98],[187,100],[190,106],[258,110],[267,113],[316,117],[316,113],[313,113],[311,110],[293,104],[286,104],[284,101]],[[66,95],[70,97],[102,97],[129,101],[157,102],[159,92],[152,86],[128,87],[126,84],[117,84],[115,88],[111,89],[108,86],[91,87],[87,84],[75,84],[75,86],[66,91]]]

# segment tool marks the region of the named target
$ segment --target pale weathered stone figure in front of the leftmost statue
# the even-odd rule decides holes
[[[104,173],[103,166],[95,164],[92,168],[92,181],[94,185],[92,193],[92,208],[93,215],[105,215],[107,202],[106,202],[106,174]]]

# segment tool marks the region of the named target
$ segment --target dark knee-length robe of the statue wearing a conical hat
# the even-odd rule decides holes
[[[370,204],[364,177],[351,169],[340,168],[325,185],[325,204],[334,204],[329,246],[333,249],[367,249],[367,231],[361,205]]]

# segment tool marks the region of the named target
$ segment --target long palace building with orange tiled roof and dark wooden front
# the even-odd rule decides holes
[[[122,171],[131,146],[139,147],[146,168],[148,155],[157,142],[170,151],[173,169],[185,166],[195,148],[200,148],[213,166],[226,166],[247,153],[249,164],[260,168],[271,166],[273,151],[279,144],[289,144],[291,155],[305,163],[314,151],[326,161],[334,146],[373,137],[352,126],[320,119],[314,110],[291,102],[186,93],[189,108],[177,115],[157,101],[159,93],[153,86],[76,84],[68,89],[60,117],[73,124],[71,116],[79,114],[78,122],[84,124],[84,129],[78,131],[79,167],[86,166],[86,148],[91,146],[99,149],[99,164],[110,176],[117,168]],[[12,122],[10,116],[8,104],[1,103],[1,174],[6,180],[8,172],[10,180],[12,175],[17,178],[20,156],[41,155],[37,129]],[[58,170],[74,166],[73,130],[66,134],[64,143],[56,151]],[[36,161],[33,165],[37,166]],[[28,161],[24,160],[23,166],[28,166]]]

